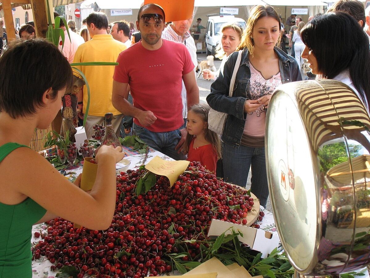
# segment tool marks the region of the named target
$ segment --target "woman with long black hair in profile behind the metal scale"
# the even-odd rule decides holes
[[[345,83],[369,110],[369,39],[356,19],[340,11],[322,14],[306,24],[301,37],[306,45],[302,58],[308,60],[316,78]]]

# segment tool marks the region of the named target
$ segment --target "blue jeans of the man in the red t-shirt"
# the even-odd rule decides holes
[[[181,139],[180,129],[168,132],[152,132],[134,123],[132,132],[139,136],[151,148],[159,150],[159,152],[164,153],[170,158],[186,160],[186,156],[182,152],[177,153],[178,150],[175,150],[175,146]]]

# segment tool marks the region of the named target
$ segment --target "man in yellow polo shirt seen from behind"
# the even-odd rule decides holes
[[[108,18],[104,13],[91,13],[86,18],[87,29],[91,40],[81,44],[75,54],[74,63],[80,62],[116,62],[118,54],[127,49],[124,43],[113,39],[107,34]],[[112,105],[112,87],[114,66],[78,66],[87,78],[90,87],[90,107],[85,124],[87,138],[94,134],[92,126],[101,123],[104,114],[111,112],[115,119],[112,121],[115,132],[120,132],[123,115]],[[83,105],[86,112],[87,88],[84,86],[83,96],[78,96],[78,108]],[[119,133],[118,133],[119,134]]]

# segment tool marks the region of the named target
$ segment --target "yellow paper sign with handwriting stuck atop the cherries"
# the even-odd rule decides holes
[[[157,175],[166,176],[172,186],[178,176],[185,172],[188,165],[189,161],[186,160],[167,161],[156,156],[145,166],[145,168]]]

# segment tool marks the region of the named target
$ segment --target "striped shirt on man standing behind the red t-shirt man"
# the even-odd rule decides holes
[[[194,74],[195,74],[195,67],[198,65],[196,60],[196,46],[193,37],[190,35],[189,32],[186,32],[184,35],[184,39],[181,36],[176,34],[174,29],[171,27],[172,24],[169,24],[162,32],[162,39],[172,40],[174,42],[184,43],[186,48],[189,50],[191,60],[194,64]],[[186,95],[186,89],[184,85],[184,81],[182,81],[182,89],[181,89],[181,98],[182,98],[182,116],[184,119],[188,117],[188,99]]]

